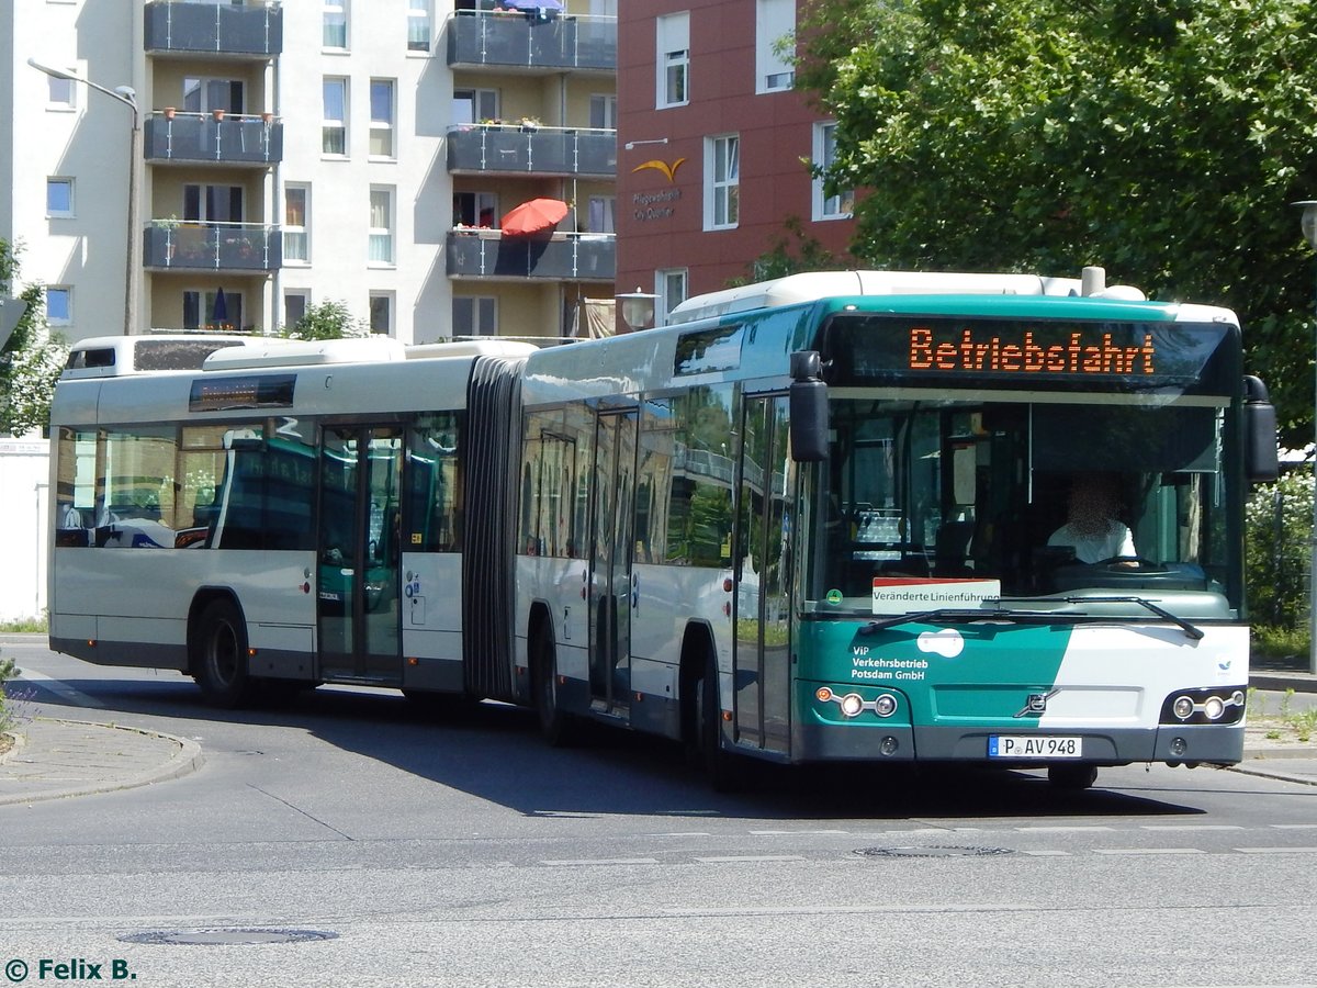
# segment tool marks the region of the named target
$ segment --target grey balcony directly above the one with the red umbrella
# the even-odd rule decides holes
[[[448,130],[448,170],[453,174],[618,174],[616,130],[556,126],[522,129],[508,124],[453,126]]]

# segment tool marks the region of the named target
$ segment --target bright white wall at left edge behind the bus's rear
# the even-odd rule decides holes
[[[46,609],[50,444],[0,439],[0,620]]]

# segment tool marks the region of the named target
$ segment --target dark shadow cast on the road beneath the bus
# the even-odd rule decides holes
[[[674,742],[583,725],[573,747],[552,748],[535,713],[506,703],[424,706],[392,690],[321,686],[282,703],[220,710],[174,673],[153,680],[66,680],[104,709],[42,692],[40,702],[70,719],[126,713],[196,722],[263,725],[304,731],[341,752],[390,765],[419,780],[507,806],[525,815],[661,815],[753,819],[909,819],[913,817],[1164,817],[1205,810],[1193,792],[1104,788],[1067,792],[1040,772],[969,765],[777,765],[744,759],[739,785],[715,793]],[[76,694],[74,694],[76,696]],[[203,750],[205,748],[203,743]],[[1110,773],[1115,769],[1108,769]]]

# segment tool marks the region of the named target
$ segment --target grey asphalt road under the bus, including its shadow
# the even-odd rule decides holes
[[[1317,786],[765,769],[716,796],[670,744],[551,750],[506,706],[436,722],[321,689],[223,713],[174,673],[3,651],[32,673],[21,713],[205,755],[0,808],[14,983],[1317,984]]]

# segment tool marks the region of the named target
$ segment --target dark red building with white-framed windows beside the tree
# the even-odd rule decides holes
[[[658,319],[727,287],[788,233],[844,257],[852,194],[824,195],[834,123],[794,88],[778,42],[797,0],[628,0],[618,36],[618,285]]]

